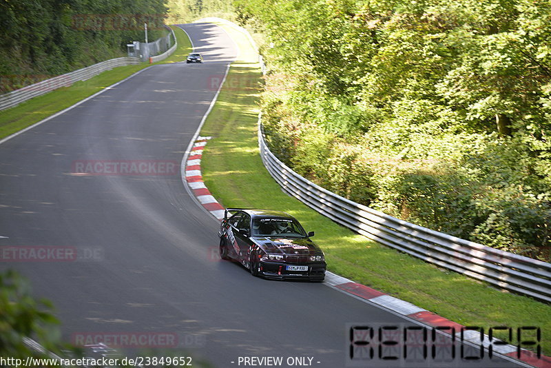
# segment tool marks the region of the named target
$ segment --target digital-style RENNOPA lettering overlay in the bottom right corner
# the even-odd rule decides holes
[[[541,329],[536,326],[424,327],[413,323],[349,323],[346,367],[408,367],[415,363],[465,367],[503,367],[503,356],[520,359],[525,349],[541,358]]]

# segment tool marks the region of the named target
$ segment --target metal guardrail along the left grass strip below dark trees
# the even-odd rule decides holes
[[[33,97],[41,96],[57,88],[68,87],[77,81],[85,81],[107,70],[111,70],[118,66],[133,65],[141,63],[136,57],[119,57],[118,59],[110,59],[102,61],[94,65],[87,66],[74,72],[54,76],[54,78],[46,79],[39,83],[27,85],[19,90],[14,90],[0,96],[0,110],[13,108],[19,103],[32,99]]]

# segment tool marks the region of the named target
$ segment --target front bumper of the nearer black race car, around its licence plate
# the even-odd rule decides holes
[[[307,271],[289,271],[287,265],[307,266]],[[322,262],[290,264],[284,262],[260,261],[259,276],[265,278],[273,278],[276,280],[295,279],[295,280],[310,280],[323,281],[325,278],[325,269],[327,265]]]

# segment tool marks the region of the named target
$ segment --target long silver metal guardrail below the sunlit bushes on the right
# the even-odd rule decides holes
[[[367,238],[501,289],[551,303],[551,263],[486,247],[375,211],[315,185],[269,150],[258,117],[262,162],[284,192]]]

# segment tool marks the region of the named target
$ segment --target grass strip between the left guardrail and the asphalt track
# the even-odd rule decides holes
[[[176,34],[178,47],[170,57],[163,61],[158,61],[155,64],[182,61],[185,59],[185,56],[191,52],[191,42],[187,34],[180,28],[174,26],[171,26],[171,28],[174,29],[174,33]],[[70,87],[59,88],[47,94],[43,94],[42,96],[30,99],[29,101],[25,101],[14,108],[3,110],[0,112],[0,139],[15,132],[19,132],[19,130],[34,123],[38,123],[42,119],[68,108],[86,97],[92,96],[92,94],[147,67],[149,67],[149,64],[142,63],[139,65],[114,68],[94,76],[87,81],[80,81],[74,83]]]

